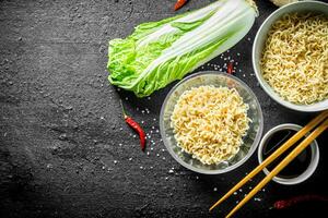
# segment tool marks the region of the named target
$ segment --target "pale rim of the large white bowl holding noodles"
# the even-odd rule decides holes
[[[294,8],[296,4],[319,4],[323,5],[325,8],[328,9],[328,3],[325,2],[319,2],[319,1],[298,1],[298,2],[293,2],[293,3],[289,3],[286,5],[283,5],[279,9],[277,9],[276,11],[273,11],[265,21],[263,23],[260,25],[260,27],[258,28],[255,39],[254,39],[254,44],[253,44],[253,48],[251,48],[251,64],[253,64],[253,69],[256,75],[256,78],[258,81],[258,83],[260,84],[261,88],[267,93],[267,95],[270,96],[270,98],[272,98],[276,102],[278,102],[279,105],[286,107],[289,109],[295,110],[295,111],[300,111],[300,112],[318,112],[318,111],[323,111],[328,109],[328,104],[327,106],[315,106],[316,104],[319,102],[324,102],[324,101],[328,101],[328,99],[319,101],[319,102],[315,102],[312,105],[296,105],[293,102],[290,102],[285,99],[283,99],[282,97],[279,96],[278,93],[276,93],[276,90],[261,77],[261,69],[257,66],[257,62],[259,60],[256,60],[256,50],[259,47],[259,38],[261,37],[261,35],[267,34],[267,32],[263,32],[263,28],[269,25],[268,23],[271,22],[271,20],[274,20],[274,16],[279,13],[283,13],[286,9],[290,8]],[[289,12],[285,12],[289,13]],[[265,85],[267,84],[267,86]]]

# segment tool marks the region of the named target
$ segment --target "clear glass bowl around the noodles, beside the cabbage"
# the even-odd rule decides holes
[[[179,96],[191,87],[202,85],[236,88],[238,94],[243,97],[244,102],[248,104],[249,110],[247,116],[253,120],[253,122],[249,122],[247,135],[243,137],[244,144],[241,145],[239,152],[229,160],[216,165],[204,165],[198,159],[192,158],[191,155],[183,152],[181,148],[177,146],[173,128],[171,128],[171,116]],[[255,94],[244,82],[226,73],[206,71],[184,78],[167,94],[161,109],[160,129],[164,145],[177,162],[195,172],[220,174],[239,167],[254,154],[262,134],[263,117]]]

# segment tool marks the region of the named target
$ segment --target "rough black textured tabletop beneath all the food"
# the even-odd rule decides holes
[[[210,2],[191,0],[177,13]],[[107,41],[127,36],[142,22],[176,14],[173,4],[174,0],[0,1],[1,217],[208,217],[209,206],[257,165],[254,155],[221,175],[184,169],[164,150],[156,132],[172,85],[137,99],[108,84]],[[315,114],[278,106],[253,74],[253,39],[276,9],[266,0],[258,7],[260,16],[251,32],[224,57],[239,62],[235,75],[257,94],[265,132],[285,122],[303,125]],[[219,57],[203,69],[215,70],[213,64],[224,62]],[[125,124],[119,98],[151,135],[149,154],[140,150]],[[327,213],[325,203],[269,209],[274,201],[298,194],[327,195],[327,133],[318,142],[320,162],[309,180],[293,186],[271,182],[237,217]],[[256,181],[214,215],[226,214]]]

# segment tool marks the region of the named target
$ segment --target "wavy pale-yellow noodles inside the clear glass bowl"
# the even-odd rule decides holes
[[[171,126],[183,150],[202,164],[219,164],[238,153],[249,129],[247,110],[235,88],[194,87],[179,97]]]

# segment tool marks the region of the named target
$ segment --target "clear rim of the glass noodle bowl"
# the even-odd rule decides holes
[[[257,108],[259,110],[259,130],[256,133],[255,140],[254,140],[251,146],[249,147],[249,150],[248,150],[247,155],[245,155],[245,157],[243,157],[238,162],[236,162],[236,164],[234,164],[232,166],[229,166],[229,167],[226,167],[224,169],[219,169],[219,170],[203,170],[203,169],[196,168],[196,167],[194,167],[191,165],[188,165],[187,162],[183,161],[175,154],[175,152],[172,149],[172,147],[169,146],[169,143],[168,143],[167,138],[166,138],[165,131],[164,131],[164,110],[165,110],[165,107],[166,107],[167,101],[168,101],[169,97],[172,96],[172,94],[176,90],[176,88],[178,86],[180,86],[185,82],[187,82],[187,81],[189,81],[191,78],[195,78],[195,77],[201,77],[201,76],[209,75],[209,74],[210,75],[216,75],[216,76],[226,76],[226,77],[230,77],[230,78],[234,80],[235,82],[239,83],[242,86],[244,86],[246,89],[248,89],[248,92],[250,93],[250,95],[253,95],[253,97],[255,98]],[[236,169],[237,167],[242,166],[255,153],[255,150],[257,149],[257,147],[259,145],[259,142],[261,140],[261,135],[262,135],[262,132],[263,132],[263,113],[262,113],[261,106],[260,106],[260,104],[259,104],[259,101],[258,101],[257,96],[255,95],[255,93],[251,90],[251,88],[246,83],[244,83],[238,77],[230,75],[227,73],[219,72],[219,71],[199,71],[199,72],[194,73],[191,75],[188,75],[184,80],[179,81],[168,92],[168,94],[166,95],[166,97],[165,97],[165,99],[163,101],[162,108],[161,108],[161,112],[160,112],[160,132],[161,132],[161,137],[162,137],[162,140],[164,142],[164,145],[165,145],[166,149],[168,150],[168,153],[171,154],[171,156],[178,164],[180,164],[185,168],[187,168],[187,169],[189,169],[191,171],[198,172],[198,173],[202,173],[202,174],[221,174],[221,173],[225,173],[225,172],[232,171],[232,170]]]

